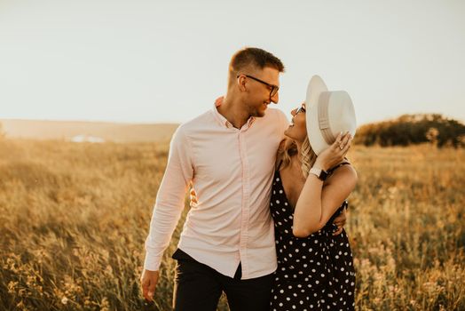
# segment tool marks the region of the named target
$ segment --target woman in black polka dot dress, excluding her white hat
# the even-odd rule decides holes
[[[345,199],[357,173],[343,157],[351,134],[316,156],[307,136],[305,104],[291,112],[277,156],[271,210],[275,223],[278,269],[272,288],[272,310],[352,310],[355,272],[343,229],[333,224],[347,207]],[[327,171],[322,181],[311,168]]]

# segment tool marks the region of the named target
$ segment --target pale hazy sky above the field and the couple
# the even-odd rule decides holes
[[[0,118],[183,123],[225,94],[244,46],[283,61],[287,114],[319,75],[358,124],[465,121],[461,0],[0,0]]]

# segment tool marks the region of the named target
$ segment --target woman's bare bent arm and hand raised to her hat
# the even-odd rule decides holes
[[[346,142],[348,149],[350,140]],[[336,144],[336,143],[335,143]],[[317,159],[315,166],[327,170],[328,163],[336,156],[345,155],[347,150],[332,146],[324,151]],[[296,203],[294,211],[293,234],[297,237],[305,237],[317,232],[324,227],[343,201],[351,194],[357,183],[357,172],[351,165],[342,165],[324,183],[317,176],[309,174],[302,192]]]

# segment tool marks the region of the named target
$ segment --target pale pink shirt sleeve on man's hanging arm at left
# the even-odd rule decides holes
[[[168,247],[184,209],[185,192],[193,179],[191,155],[190,142],[185,135],[185,128],[181,125],[173,134],[169,146],[168,163],[150,221],[150,230],[146,238],[146,270],[159,269],[163,251]]]

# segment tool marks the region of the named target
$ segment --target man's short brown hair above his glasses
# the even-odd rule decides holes
[[[229,73],[230,76],[235,78],[235,75],[245,68],[263,69],[265,67],[284,72],[284,65],[281,60],[271,52],[256,47],[246,47],[234,53],[229,63]]]

